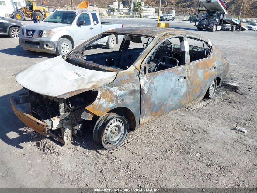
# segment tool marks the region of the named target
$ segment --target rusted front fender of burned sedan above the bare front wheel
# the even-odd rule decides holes
[[[85,107],[91,113],[102,116],[116,108],[129,109],[139,127],[140,119],[140,83],[138,70],[131,65],[125,71],[119,72],[116,79],[105,86],[94,89],[98,92],[96,100]]]

